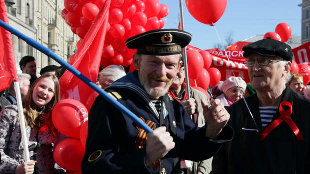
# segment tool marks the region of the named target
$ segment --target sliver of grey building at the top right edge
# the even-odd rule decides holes
[[[298,6],[302,7],[301,12],[301,44],[310,41],[310,0],[302,0]]]

